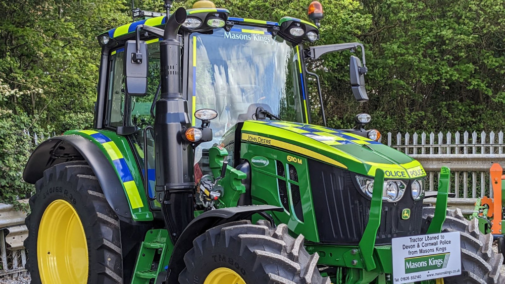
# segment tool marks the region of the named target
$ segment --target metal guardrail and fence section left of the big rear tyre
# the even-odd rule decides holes
[[[27,203],[28,199],[20,200]],[[0,277],[25,273],[26,250],[23,245],[28,237],[26,213],[14,206],[0,203]]]

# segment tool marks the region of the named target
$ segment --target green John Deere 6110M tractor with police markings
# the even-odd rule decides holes
[[[98,36],[94,129],[31,155],[32,283],[505,281],[491,235],[446,210],[447,168],[425,193],[423,167],[377,142],[369,115],[311,124],[306,63],[325,53],[361,48],[351,90],[368,100],[363,45],[308,46],[320,3],[314,23],[171,6]]]

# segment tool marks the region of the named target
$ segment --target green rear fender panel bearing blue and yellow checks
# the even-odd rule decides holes
[[[125,137],[108,130],[71,130],[64,135],[79,135],[89,139],[109,159],[117,178],[122,182],[124,194],[135,221],[153,220],[153,213],[145,197],[142,175],[134,154]],[[113,177],[111,177],[113,178]]]

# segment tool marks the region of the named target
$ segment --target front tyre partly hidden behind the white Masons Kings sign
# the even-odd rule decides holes
[[[423,233],[433,219],[434,207],[423,208]],[[442,233],[460,232],[462,274],[444,277],[444,284],[505,283],[500,274],[503,256],[493,251],[493,236],[479,231],[477,219],[467,220],[459,208],[447,210]]]

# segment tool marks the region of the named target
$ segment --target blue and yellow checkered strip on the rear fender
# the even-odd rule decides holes
[[[142,199],[138,193],[137,185],[133,180],[133,176],[130,172],[130,168],[126,164],[126,160],[123,158],[123,154],[119,150],[118,146],[107,136],[94,130],[81,130],[80,133],[87,134],[95,139],[97,142],[102,144],[105,148],[107,154],[111,158],[116,172],[123,183],[123,186],[130,200],[130,205],[132,209],[143,207]]]

